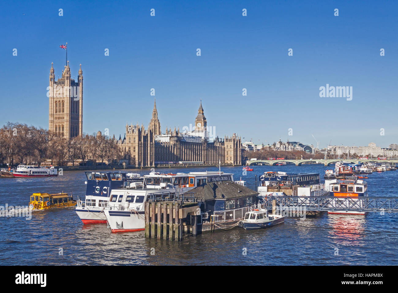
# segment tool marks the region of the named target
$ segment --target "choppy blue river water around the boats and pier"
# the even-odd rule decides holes
[[[217,170],[172,170],[206,169]],[[254,189],[254,175],[264,171],[323,175],[325,169],[322,165],[254,166],[246,176],[242,176],[242,167],[222,171],[234,173],[235,180],[242,176]],[[149,173],[149,169],[132,171]],[[27,206],[33,192],[64,191],[81,197],[86,191],[85,179],[84,171],[64,171],[63,176],[52,178],[0,179],[0,205]],[[398,196],[398,171],[373,173],[366,180],[369,196]],[[106,224],[83,225],[70,207],[33,211],[31,220],[0,217],[0,265],[397,265],[397,223],[398,214],[323,213],[305,220],[287,218],[285,223],[264,230],[234,228],[197,237],[184,234],[183,241],[171,242],[146,239],[144,232],[113,234]],[[245,248],[247,254],[243,255]]]

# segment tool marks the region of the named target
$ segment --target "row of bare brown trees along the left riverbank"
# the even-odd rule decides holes
[[[42,164],[47,159],[51,165],[75,165],[87,160],[119,162],[124,154],[108,136],[83,134],[70,140],[57,136],[44,128],[8,122],[0,128],[0,162],[11,166]]]

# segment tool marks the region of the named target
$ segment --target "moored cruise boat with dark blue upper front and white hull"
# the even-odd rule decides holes
[[[84,201],[78,200],[76,214],[83,224],[105,224],[101,203],[107,203],[113,189],[128,185],[131,188],[143,186],[143,177],[119,172],[86,172],[87,187]]]

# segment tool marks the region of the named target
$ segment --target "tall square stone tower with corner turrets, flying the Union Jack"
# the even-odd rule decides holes
[[[71,139],[83,134],[83,71],[78,80],[70,78],[69,61],[62,77],[55,81],[53,63],[49,84],[49,130],[63,138]]]

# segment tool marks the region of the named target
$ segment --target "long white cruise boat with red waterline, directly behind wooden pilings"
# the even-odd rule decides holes
[[[233,174],[216,172],[190,172],[144,175],[142,189],[113,189],[108,202],[102,203],[103,212],[112,232],[144,230],[144,203],[150,198],[173,198],[207,182],[231,181]]]

